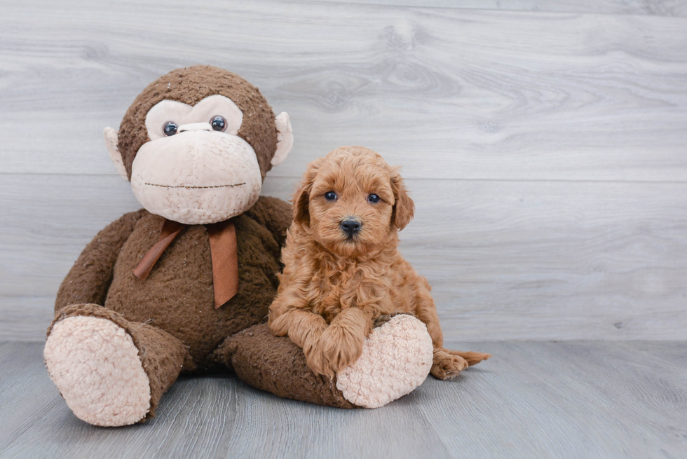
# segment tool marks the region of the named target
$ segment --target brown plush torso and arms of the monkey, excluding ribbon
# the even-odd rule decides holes
[[[56,313],[69,304],[100,303],[127,320],[147,322],[168,331],[188,345],[191,361],[184,371],[221,370],[210,357],[212,352],[231,334],[263,322],[278,286],[280,247],[276,238],[286,237],[286,227],[278,225],[285,223],[290,207],[276,199],[261,200],[255,212],[249,210],[233,219],[239,288],[236,296],[221,308],[215,308],[210,240],[205,226],[186,228],[165,250],[146,280],[135,277],[134,268],[156,244],[164,223],[163,217],[137,211],[101,231],[81,254],[62,282]],[[271,224],[276,238],[251,214]],[[117,247],[106,247],[109,242],[115,242]],[[108,254],[114,269],[93,270],[97,266],[89,266],[91,259],[107,257],[91,252]],[[99,288],[95,287],[97,284]],[[86,294],[88,290],[100,294]]]

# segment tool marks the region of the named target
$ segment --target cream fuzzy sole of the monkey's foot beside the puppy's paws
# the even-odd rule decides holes
[[[356,406],[379,408],[421,385],[432,359],[425,324],[395,315],[369,334],[360,358],[336,374],[336,388]]]

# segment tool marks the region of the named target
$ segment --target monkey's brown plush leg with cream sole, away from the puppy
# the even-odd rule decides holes
[[[186,355],[186,346],[166,331],[95,304],[60,310],[44,350],[48,374],[69,408],[102,426],[155,416]]]

